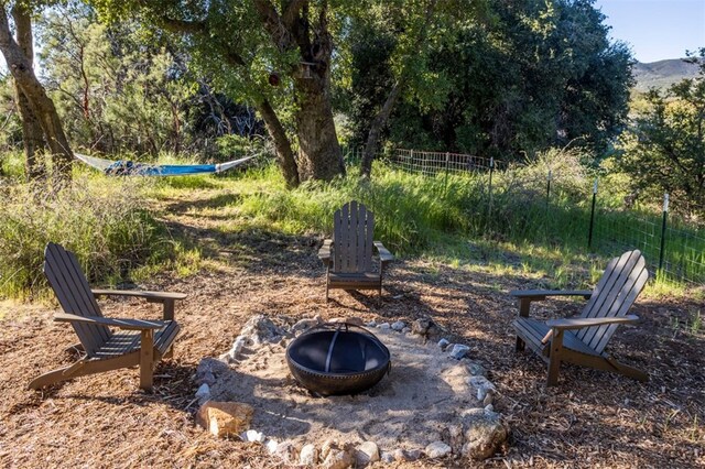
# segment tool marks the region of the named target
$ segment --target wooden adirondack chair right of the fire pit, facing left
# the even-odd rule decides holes
[[[612,259],[594,291],[513,291],[519,299],[519,317],[512,323],[517,331],[517,350],[528,345],[549,366],[547,385],[558,381],[561,362],[570,362],[621,373],[639,381],[648,375],[615,360],[605,347],[620,324],[639,317],[627,312],[641,293],[649,272],[639,251]],[[579,317],[540,321],[529,318],[532,302],[550,296],[583,296],[589,299]]]

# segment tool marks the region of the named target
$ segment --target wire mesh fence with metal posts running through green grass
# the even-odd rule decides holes
[[[349,160],[358,155],[355,151],[349,154]],[[661,212],[626,205],[614,208],[614,203],[598,194],[597,183],[594,190],[566,195],[565,187],[571,184],[561,181],[561,173],[534,172],[521,178],[514,174],[517,168],[521,171],[519,165],[510,167],[476,155],[398,149],[386,160],[408,173],[429,177],[445,174],[446,179],[447,175],[460,176],[468,184],[480,184],[482,199],[468,208],[468,214],[484,218],[481,233],[577,246],[604,255],[639,249],[662,277],[705,284],[705,227],[668,211],[668,207]],[[502,183],[497,184],[498,178]],[[651,207],[660,205],[653,203]]]

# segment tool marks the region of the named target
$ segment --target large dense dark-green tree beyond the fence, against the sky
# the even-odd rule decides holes
[[[609,42],[593,1],[496,0],[488,9],[485,21],[462,22],[432,44],[421,75],[434,77],[436,92],[405,96],[392,144],[518,159],[579,139],[604,152],[627,117],[631,57]],[[378,31],[352,48],[354,64],[376,64],[352,80],[354,129],[365,127],[370,101],[379,106],[377,87],[393,69],[394,31]]]

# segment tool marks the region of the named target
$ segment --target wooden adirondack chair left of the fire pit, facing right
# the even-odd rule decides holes
[[[54,320],[70,323],[80,340],[77,346],[85,357],[74,364],[35,378],[29,388],[43,386],[86,374],[140,367],[140,388],[152,388],[152,372],[162,358],[173,353],[178,334],[174,320],[174,302],[186,297],[183,293],[90,290],[74,253],[50,242],[44,250],[44,275],[56,294],[64,313]],[[98,296],[138,296],[150,303],[162,303],[164,320],[111,319],[104,317],[96,302]],[[113,332],[113,327],[121,332]]]

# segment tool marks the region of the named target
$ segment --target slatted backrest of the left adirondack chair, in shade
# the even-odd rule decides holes
[[[102,316],[73,253],[50,242],[44,250],[44,274],[65,313],[85,317]],[[89,357],[111,337],[110,329],[105,326],[79,323],[72,325]]]

